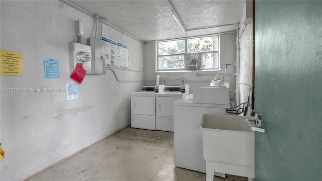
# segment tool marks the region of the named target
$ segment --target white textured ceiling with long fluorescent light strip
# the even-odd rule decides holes
[[[164,1],[68,1],[142,41],[167,40],[228,32],[241,19],[245,1],[170,1],[188,30],[183,33]]]

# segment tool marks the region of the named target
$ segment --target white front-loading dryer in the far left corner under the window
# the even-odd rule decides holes
[[[141,92],[131,93],[131,127],[155,130],[155,94],[164,85],[142,86]]]

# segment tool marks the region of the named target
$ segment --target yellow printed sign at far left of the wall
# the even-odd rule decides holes
[[[22,53],[0,50],[0,75],[22,76]]]

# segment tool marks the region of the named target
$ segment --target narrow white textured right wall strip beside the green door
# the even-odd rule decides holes
[[[252,92],[250,88],[253,84],[253,22],[248,24],[244,33],[240,37],[240,69],[239,69],[239,95],[240,103],[248,101],[252,103]],[[250,111],[251,106],[248,110]]]

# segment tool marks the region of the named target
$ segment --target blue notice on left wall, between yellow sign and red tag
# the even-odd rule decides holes
[[[44,58],[44,77],[59,78],[59,60]]]

